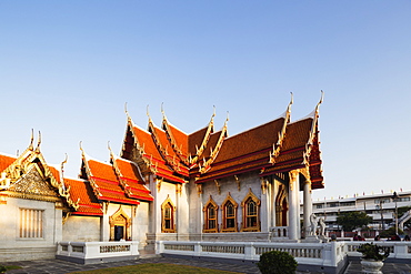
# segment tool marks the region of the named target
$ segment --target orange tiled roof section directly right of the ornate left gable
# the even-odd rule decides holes
[[[70,196],[73,201],[79,201],[79,209],[74,215],[96,215],[102,216],[102,206],[96,199],[89,182],[64,177],[66,187],[70,187]]]

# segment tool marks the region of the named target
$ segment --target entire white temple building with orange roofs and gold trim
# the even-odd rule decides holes
[[[309,227],[311,191],[322,189],[319,106],[229,136],[228,119],[193,133],[134,124],[108,162],[83,148],[80,175],[46,162],[33,138],[18,156],[0,154],[0,261],[54,257],[56,244],[138,241],[289,241]],[[303,226],[300,225],[303,201]]]

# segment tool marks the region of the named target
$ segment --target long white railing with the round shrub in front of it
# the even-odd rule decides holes
[[[158,254],[237,258],[259,261],[269,251],[290,253],[299,264],[337,267],[344,260],[344,243],[238,243],[238,242],[169,242],[158,241]]]

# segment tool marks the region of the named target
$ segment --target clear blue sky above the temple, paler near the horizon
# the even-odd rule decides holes
[[[235,134],[320,110],[325,189],[314,199],[411,190],[410,1],[0,1],[0,152],[42,133],[66,174],[79,142],[120,152],[124,103],[147,126],[163,102],[190,133],[217,108]]]

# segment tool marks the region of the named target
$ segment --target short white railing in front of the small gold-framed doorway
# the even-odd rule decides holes
[[[80,260],[138,256],[139,242],[59,242],[57,255]]]

